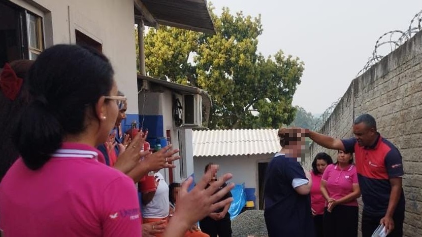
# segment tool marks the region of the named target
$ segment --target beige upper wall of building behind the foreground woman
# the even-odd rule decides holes
[[[138,113],[133,0],[11,0],[43,18],[46,48],[75,44],[79,30],[103,46],[129,114]]]

